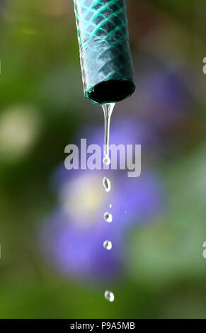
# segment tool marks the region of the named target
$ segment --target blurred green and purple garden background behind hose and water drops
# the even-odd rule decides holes
[[[127,1],[137,90],[115,106],[111,143],[142,145],[128,179],[64,169],[66,145],[103,144],[73,2],[0,1],[1,318],[206,317],[205,10]]]

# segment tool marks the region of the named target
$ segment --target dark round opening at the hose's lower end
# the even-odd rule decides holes
[[[103,81],[88,92],[88,98],[96,103],[115,103],[132,95],[135,84],[127,80]]]

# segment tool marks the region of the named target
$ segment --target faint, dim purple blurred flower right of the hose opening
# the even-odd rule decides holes
[[[131,106],[139,118],[151,124],[153,131],[168,131],[181,122],[193,105],[194,97],[186,82],[182,69],[150,68],[137,77]]]

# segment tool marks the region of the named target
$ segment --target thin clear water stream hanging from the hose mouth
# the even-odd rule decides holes
[[[110,164],[109,157],[109,146],[110,146],[110,119],[113,113],[113,108],[115,107],[115,103],[106,103],[102,104],[104,118],[105,118],[105,144],[104,144],[104,156],[103,163],[106,165]]]

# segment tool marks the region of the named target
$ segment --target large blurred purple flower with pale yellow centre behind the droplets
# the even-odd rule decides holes
[[[118,144],[122,135],[126,144],[141,144],[143,137],[147,142],[144,128],[139,126],[135,132],[134,122],[124,120],[123,124],[124,134],[119,132],[120,121],[114,124],[111,143]],[[97,130],[92,140],[99,143],[102,137]],[[109,193],[103,188],[104,176],[111,181]],[[156,174],[144,171],[139,178],[130,179],[127,171],[67,171],[60,166],[52,184],[58,205],[41,230],[47,259],[61,273],[84,281],[118,276],[124,264],[127,232],[150,222],[162,208],[163,189]],[[113,214],[113,222],[105,222],[106,211]],[[103,248],[106,239],[113,244],[111,250]]]

